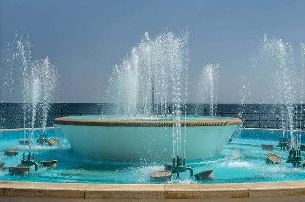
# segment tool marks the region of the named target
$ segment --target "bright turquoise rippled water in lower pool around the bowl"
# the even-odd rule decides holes
[[[18,139],[21,139],[21,134],[23,134],[21,132],[2,132],[0,139],[1,149],[10,148],[20,151],[14,157],[4,156],[4,152],[2,151],[0,162],[6,162],[6,167],[20,164],[23,146],[19,145]],[[54,130],[49,130],[48,132],[48,137],[56,137]],[[245,134],[249,133],[249,131],[241,131],[241,133],[243,132]],[[1,170],[0,179],[3,181],[28,182],[150,184],[149,173],[156,170],[163,170],[163,163],[171,162],[171,159],[168,162],[122,162],[88,159],[74,154],[64,136],[57,138],[62,142],[62,145],[59,147],[35,146],[33,149],[37,162],[58,160],[56,168],[39,168],[38,171],[34,171],[33,166],[28,176],[9,176],[8,170]],[[227,144],[220,156],[186,161],[186,164],[194,169],[194,174],[207,169],[214,169],[215,180],[204,183],[252,183],[305,180],[305,169],[293,168],[291,164],[285,163],[285,160],[288,158],[287,151],[280,151],[275,147],[275,150],[272,152],[281,156],[284,162],[279,165],[267,165],[265,163],[265,154],[267,151],[261,150],[261,143],[273,143],[276,145],[277,141],[257,139],[254,137],[234,138],[232,142]],[[28,152],[28,148],[25,148],[25,151]],[[180,175],[181,178],[179,180],[173,179],[168,184],[201,183],[189,179],[188,175],[189,172],[184,173]]]

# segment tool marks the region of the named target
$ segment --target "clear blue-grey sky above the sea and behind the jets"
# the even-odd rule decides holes
[[[103,102],[111,67],[147,31],[178,33],[189,27],[189,102],[196,101],[199,71],[219,63],[219,103],[240,101],[241,76],[264,33],[292,44],[296,65],[305,42],[305,1],[78,1],[0,0],[0,46],[26,30],[33,59],[49,56],[61,75],[55,101]],[[298,72],[299,73],[299,72]],[[260,82],[260,74],[252,81]],[[254,102],[264,101],[257,89]]]

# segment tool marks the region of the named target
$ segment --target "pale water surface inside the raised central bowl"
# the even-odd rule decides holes
[[[95,115],[95,116],[70,116],[65,117],[66,119],[85,119],[85,120],[120,120],[120,121],[172,121],[175,117],[126,117],[126,116],[115,116],[115,115]],[[186,116],[187,121],[203,121],[203,120],[226,120],[229,117],[210,117],[210,116]],[[185,117],[181,117],[181,120],[185,120]]]

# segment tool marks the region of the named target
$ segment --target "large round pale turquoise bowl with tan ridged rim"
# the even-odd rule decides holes
[[[57,118],[75,153],[103,160],[168,161],[173,154],[173,118],[159,120],[109,120],[107,116]],[[181,118],[183,119],[183,118]],[[220,155],[240,119],[228,117],[188,117],[180,122],[181,147],[186,134],[186,159]]]

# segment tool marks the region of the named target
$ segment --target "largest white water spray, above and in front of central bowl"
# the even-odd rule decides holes
[[[123,114],[130,119],[174,114],[173,156],[182,155],[180,117],[187,100],[188,39],[188,32],[180,36],[167,32],[151,40],[146,32],[131,57],[115,65],[110,77],[109,97],[117,106],[125,106]]]

